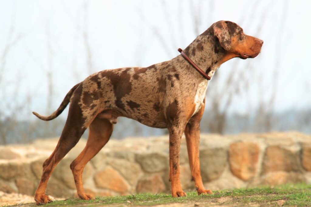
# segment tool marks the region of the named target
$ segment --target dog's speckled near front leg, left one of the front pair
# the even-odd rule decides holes
[[[178,127],[169,128],[169,179],[173,197],[187,196],[181,189],[179,180],[179,153],[182,134],[183,129]]]

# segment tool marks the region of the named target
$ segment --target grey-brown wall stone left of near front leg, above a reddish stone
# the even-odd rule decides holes
[[[164,171],[169,166],[168,156],[158,152],[137,154],[136,161],[148,173]]]

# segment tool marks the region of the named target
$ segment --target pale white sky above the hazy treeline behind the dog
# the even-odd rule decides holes
[[[269,103],[274,91],[273,110],[308,108],[310,7],[311,1],[290,0],[1,0],[0,105],[30,100],[29,111],[50,113],[73,85],[91,73],[170,60],[212,23],[230,20],[245,34],[264,40],[262,52],[255,59],[224,63],[207,91],[211,87],[226,93],[232,86],[225,80],[235,66],[243,71],[234,74],[236,79],[245,74],[249,89],[239,88],[242,92],[234,96],[231,112],[256,110],[260,101]],[[8,43],[12,47],[6,51]],[[49,71],[53,102],[47,109]],[[29,111],[21,117],[28,117]]]

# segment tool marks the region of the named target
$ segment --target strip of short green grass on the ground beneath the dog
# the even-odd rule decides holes
[[[67,199],[54,201],[45,206],[153,206],[172,203],[183,203],[186,206],[194,206],[194,204],[200,206],[277,206],[278,200],[284,200],[283,206],[311,206],[311,185],[306,184],[286,184],[276,187],[243,188],[213,192],[214,195],[201,196],[198,196],[197,192],[188,192],[187,197],[181,198],[172,198],[168,194],[136,194],[96,197],[95,200],[89,201]],[[35,206],[35,204],[23,204],[20,206]]]

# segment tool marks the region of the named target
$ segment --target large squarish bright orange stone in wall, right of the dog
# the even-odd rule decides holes
[[[229,164],[232,174],[247,181],[256,174],[259,147],[255,143],[235,142],[229,147]]]

